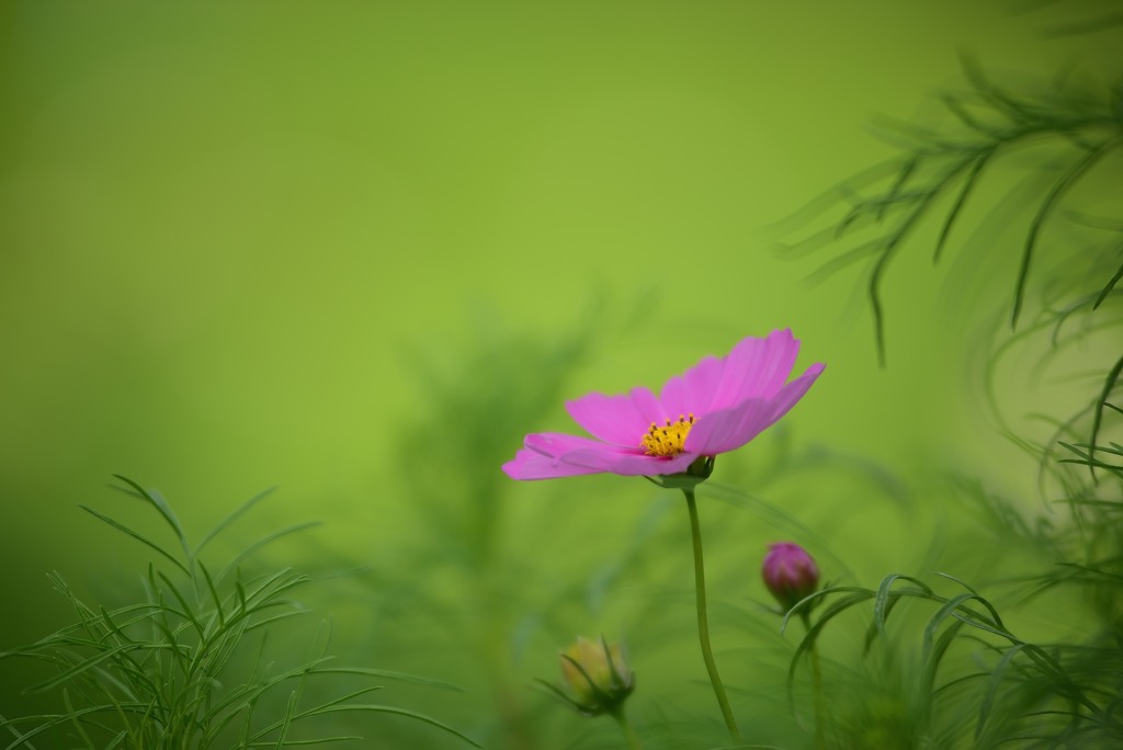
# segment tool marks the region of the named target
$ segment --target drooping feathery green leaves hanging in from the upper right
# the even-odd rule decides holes
[[[1031,272],[1049,226],[1075,189],[1123,146],[1123,89],[1070,88],[1065,81],[1021,93],[994,83],[973,61],[964,61],[968,88],[949,91],[940,101],[952,125],[926,128],[891,122],[885,136],[901,153],[841,183],[811,207],[832,214],[831,226],[789,249],[815,249],[841,243],[844,249],[816,273],[827,276],[855,263],[868,268],[866,293],[874,319],[878,357],[885,364],[884,281],[889,264],[928,221],[938,226],[932,260],[938,263],[980,185],[1015,154],[1048,156],[1038,170],[1047,177],[1032,198],[1022,229],[1014,274],[1011,324],[1023,313]],[[999,181],[999,185],[1003,183]],[[985,201],[983,201],[985,203]],[[1123,276],[1123,228],[1112,227],[1107,243],[1116,257],[1099,280],[1093,307],[1112,293]]]

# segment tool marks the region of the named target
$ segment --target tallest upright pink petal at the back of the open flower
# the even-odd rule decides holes
[[[749,399],[772,399],[792,374],[798,354],[800,341],[789,329],[741,339],[725,357],[710,405],[729,409]]]

